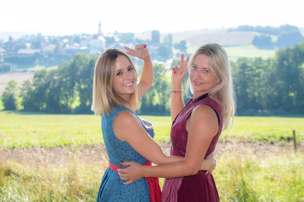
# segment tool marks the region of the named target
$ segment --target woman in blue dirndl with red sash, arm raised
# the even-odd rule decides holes
[[[92,111],[102,117],[102,134],[109,158],[97,201],[160,201],[158,178],[141,178],[124,185],[126,181],[117,173],[117,169],[126,168],[122,165],[124,161],[149,166],[151,162],[162,165],[184,159],[164,155],[153,139],[153,124],[134,113],[138,98],[153,83],[153,66],[146,45],[125,48],[127,54],[119,49],[107,49],[94,67]],[[143,60],[138,82],[135,66],[128,55]],[[128,128],[132,128],[132,133]],[[210,155],[201,170],[212,172],[214,167],[215,160]]]

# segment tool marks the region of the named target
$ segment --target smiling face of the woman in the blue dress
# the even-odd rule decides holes
[[[116,59],[112,89],[119,96],[129,102],[131,94],[136,89],[137,75],[129,59],[120,55]]]

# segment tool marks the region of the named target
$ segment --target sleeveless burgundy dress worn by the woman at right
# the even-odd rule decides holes
[[[208,96],[208,94],[204,94],[191,100],[173,121],[171,127],[171,156],[185,156],[188,136],[186,121],[194,108],[199,105],[208,105],[212,107],[216,112],[219,121],[218,131],[212,138],[205,158],[214,151],[216,142],[222,130],[221,108],[215,100]],[[193,176],[165,179],[161,201],[219,201],[213,176],[212,174],[205,175],[205,173],[206,171],[199,171]]]

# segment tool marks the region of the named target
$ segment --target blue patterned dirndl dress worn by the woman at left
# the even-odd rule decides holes
[[[112,113],[109,115],[103,114],[101,118],[102,135],[109,162],[119,167],[127,167],[122,165],[121,161],[146,163],[147,160],[145,158],[140,156],[126,141],[119,140],[114,133],[113,121],[115,117],[123,111],[131,111],[124,108],[114,108],[112,110]],[[131,113],[136,116],[134,112]],[[138,116],[136,117],[141,120]],[[153,138],[153,124],[145,120],[141,120],[141,122],[147,133]],[[96,201],[150,201],[149,186],[145,178],[136,180],[129,185],[123,185],[124,182],[126,181],[122,180],[117,172],[108,167],[102,177]]]

